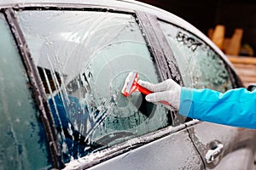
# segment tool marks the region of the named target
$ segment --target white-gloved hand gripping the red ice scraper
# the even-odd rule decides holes
[[[151,82],[138,81],[143,88],[152,91],[152,94],[146,96],[148,102],[161,102],[166,101],[175,109],[179,109],[179,101],[181,94],[181,87],[172,79],[167,79],[164,82],[153,84]]]

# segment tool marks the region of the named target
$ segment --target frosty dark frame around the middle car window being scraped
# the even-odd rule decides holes
[[[15,7],[6,7],[3,10],[3,14],[5,14],[5,17],[9,23],[10,29],[15,37],[15,42],[17,44],[17,47],[19,48],[20,55],[22,57],[22,61],[24,62],[24,65],[26,66],[26,71],[28,74],[28,77],[30,79],[31,85],[32,85],[32,91],[35,95],[35,98],[37,99],[37,105],[38,108],[40,108],[40,114],[43,117],[44,127],[46,129],[46,132],[48,134],[49,138],[49,146],[50,150],[53,154],[52,160],[54,162],[54,167],[62,168],[65,165],[63,164],[63,160],[61,157],[61,150],[59,146],[59,141],[57,139],[57,135],[55,132],[54,122],[53,118],[51,116],[51,112],[49,110],[49,105],[47,103],[46,96],[44,94],[44,86],[42,82],[40,81],[40,77],[38,74],[38,70],[36,65],[33,63],[32,60],[32,54],[30,53],[29,49],[27,48],[27,43],[25,40],[25,37],[21,31],[20,25],[18,21],[16,20],[15,11],[20,10],[35,10],[41,8],[42,10],[93,10],[93,11],[102,11],[102,12],[113,12],[113,13],[123,13],[123,14],[132,14],[135,16],[138,20],[138,25],[143,27],[143,33],[145,37],[145,41],[148,44],[149,52],[152,54],[152,57],[155,59],[156,67],[158,71],[160,72],[160,78],[162,80],[165,80],[167,78],[172,77],[171,71],[173,71],[173,64],[170,65],[166,62],[166,58],[164,58],[164,53],[162,51],[162,48],[158,44],[157,37],[154,34],[154,29],[152,26],[152,23],[149,22],[148,14],[126,9],[126,8],[109,8],[109,7],[94,7],[91,5],[78,5],[78,4],[55,4],[55,3],[49,3],[49,4],[40,4],[37,3],[36,7],[33,5],[28,4],[20,4]],[[147,29],[145,29],[145,26]],[[149,27],[149,29],[148,29]],[[154,35],[154,36],[153,36]],[[26,47],[26,48],[22,48]],[[164,70],[160,68],[165,68]],[[46,118],[47,117],[47,118]],[[182,130],[185,128],[184,124],[181,124],[177,127],[164,127],[160,130],[154,131],[153,133],[147,133],[143,136],[140,136],[135,139],[131,139],[131,143],[127,144],[118,144],[118,147],[110,147],[107,150],[102,151],[102,156],[98,156],[94,160],[87,160],[81,163],[80,167],[92,167],[102,161],[109,160],[113,158],[114,156],[119,156],[120,154],[123,154],[129,150],[134,150],[135,148],[142,146],[143,144],[148,144],[156,139],[160,139],[165,137],[166,135],[170,133],[175,133],[177,131]],[[139,139],[139,140],[138,140]],[[118,149],[117,149],[118,148]],[[96,154],[92,154],[96,155]],[[89,155],[91,156],[91,155]],[[84,160],[86,160],[89,156],[85,156]],[[80,161],[80,160],[79,160]],[[72,163],[72,161],[70,161]]]

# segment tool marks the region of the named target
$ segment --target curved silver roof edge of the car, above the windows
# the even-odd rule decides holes
[[[178,17],[175,14],[167,12],[164,9],[154,7],[147,3],[138,2],[135,0],[1,0],[0,8],[24,8],[24,7],[41,7],[41,6],[69,6],[73,7],[106,7],[113,9],[125,9],[130,11],[141,11],[148,14],[155,14],[162,20],[167,20],[172,22],[177,26],[182,26],[184,29],[191,31],[200,37],[203,41],[212,45],[212,48],[221,54],[222,58],[236,70],[234,66],[230,63],[230,60],[224,55],[224,53],[201,31],[199,31],[195,26],[192,26],[186,20]]]

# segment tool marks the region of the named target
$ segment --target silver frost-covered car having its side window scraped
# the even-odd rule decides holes
[[[0,169],[255,168],[255,130],[122,95],[131,71],[243,87],[223,52],[176,15],[128,0],[2,0],[0,37]]]

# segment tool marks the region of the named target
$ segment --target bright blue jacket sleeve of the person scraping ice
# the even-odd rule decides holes
[[[256,90],[236,88],[222,94],[182,88],[179,113],[206,122],[256,129]]]

